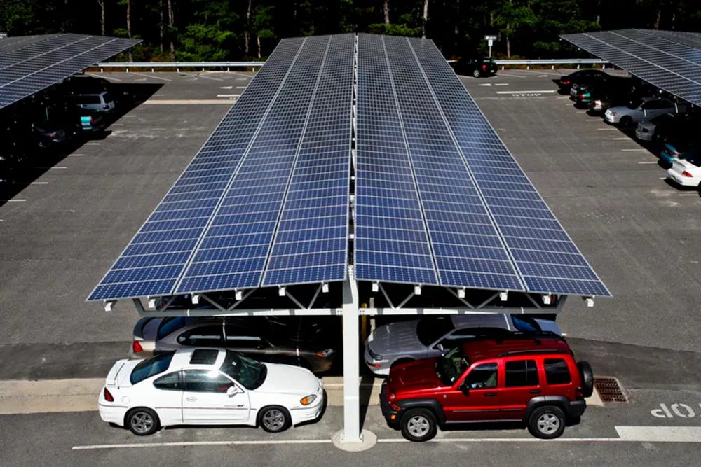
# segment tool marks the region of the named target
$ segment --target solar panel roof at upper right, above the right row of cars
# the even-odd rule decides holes
[[[701,34],[620,29],[561,37],[662,90],[701,105]]]

